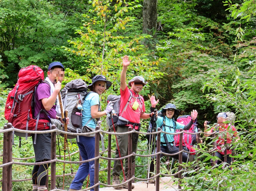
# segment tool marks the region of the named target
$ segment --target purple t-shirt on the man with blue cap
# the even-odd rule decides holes
[[[51,88],[49,86],[49,84],[47,83],[41,83],[38,85],[38,87],[36,88],[36,92],[35,92],[35,112],[34,112],[34,117],[37,116],[37,114],[40,112],[40,110],[43,108],[43,104],[42,104],[42,99],[43,98],[48,98],[51,95]],[[49,114],[49,116],[53,119],[56,118],[56,104],[54,104],[52,106],[52,108],[50,109],[50,111],[47,111],[47,113]],[[40,117],[41,120],[49,120],[49,117],[46,116],[46,114],[44,112],[40,113]]]

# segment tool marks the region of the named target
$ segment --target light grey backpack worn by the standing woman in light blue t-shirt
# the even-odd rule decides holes
[[[82,133],[82,109],[78,109],[78,105],[83,105],[84,99],[91,92],[88,92],[88,86],[82,79],[74,79],[66,84],[61,90],[63,109],[68,110],[69,124],[68,132]],[[62,127],[64,131],[64,127]],[[63,134],[60,134],[64,136]],[[75,139],[79,142],[78,135],[67,135],[68,139]]]

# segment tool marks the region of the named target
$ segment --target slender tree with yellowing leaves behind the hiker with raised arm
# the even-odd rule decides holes
[[[83,15],[85,23],[77,33],[81,36],[75,41],[69,41],[75,49],[66,50],[83,57],[83,65],[79,65],[79,73],[91,77],[103,74],[113,82],[111,88],[114,92],[119,92],[118,81],[121,73],[122,55],[128,54],[131,59],[131,66],[127,71],[127,79],[134,75],[142,75],[146,80],[160,78],[163,73],[158,71],[157,65],[161,59],[152,59],[147,53],[143,53],[143,46],[140,41],[143,36],[119,35],[128,23],[135,18],[124,16],[128,10],[133,10],[139,5],[134,2],[127,3],[122,7],[122,3],[110,6],[110,2],[90,1],[93,9],[89,13],[94,13],[97,17],[91,17],[89,13]],[[144,95],[148,90],[144,88]]]

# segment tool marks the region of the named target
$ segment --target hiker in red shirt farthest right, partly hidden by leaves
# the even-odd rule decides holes
[[[207,131],[207,121],[204,122],[204,133],[213,133],[214,131],[219,132],[217,135],[218,139],[216,141],[217,151],[214,153],[219,160],[214,161],[215,164],[220,164],[224,162],[224,150],[227,149],[227,163],[231,165],[232,161],[232,149],[230,149],[230,144],[232,142],[237,142],[240,138],[237,135],[236,127],[228,124],[228,115],[225,112],[221,112],[217,115],[217,126],[212,127],[211,130]],[[211,134],[204,134],[205,136],[211,136]],[[227,145],[224,142],[227,141]]]

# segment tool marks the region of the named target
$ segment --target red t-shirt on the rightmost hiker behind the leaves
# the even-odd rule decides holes
[[[228,129],[229,128],[229,129]],[[226,124],[225,127],[219,127],[219,132],[226,132],[226,136],[223,134],[219,134],[218,136],[218,140],[216,141],[216,144],[220,144],[220,145],[224,145],[224,141],[225,139],[227,139],[227,144],[230,144],[232,142],[232,135],[230,135],[227,131],[233,131],[233,136],[236,137],[237,136],[237,130],[234,126],[231,126],[231,128],[229,127],[228,124]],[[212,132],[215,131],[215,128],[212,128]],[[217,146],[217,150],[221,151],[223,149],[223,147],[221,146]],[[227,154],[231,154],[232,150],[227,149]],[[220,152],[220,154],[224,154],[224,151]]]

